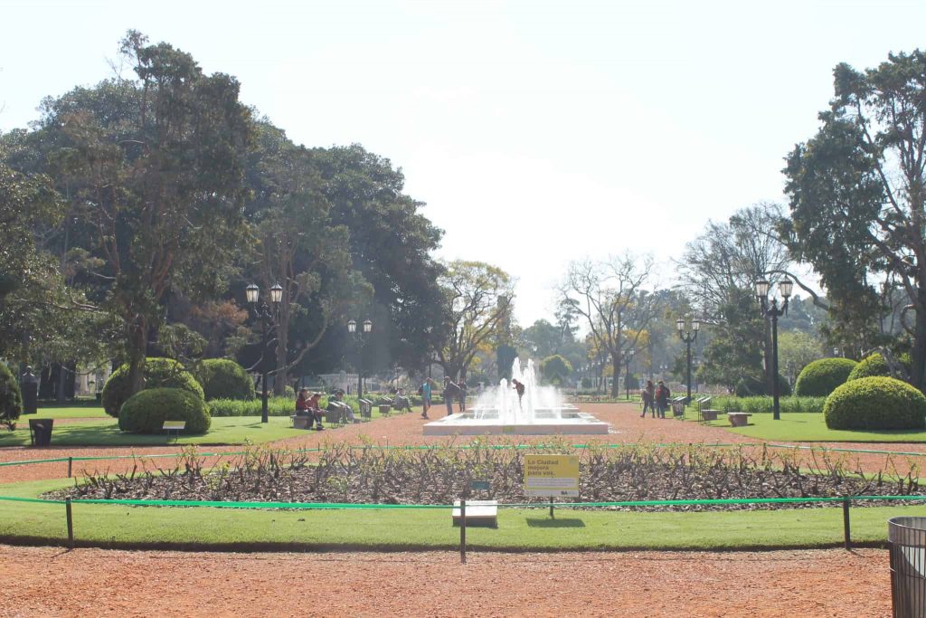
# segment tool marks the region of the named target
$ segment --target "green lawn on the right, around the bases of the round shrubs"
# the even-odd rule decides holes
[[[731,427],[726,414],[720,414],[717,421],[708,421],[711,427],[723,427],[727,431],[763,440],[781,442],[926,442],[926,431],[845,431],[830,429],[821,413],[782,412],[776,421],[771,412],[753,414],[745,427]],[[685,410],[686,421],[696,421],[694,408]]]

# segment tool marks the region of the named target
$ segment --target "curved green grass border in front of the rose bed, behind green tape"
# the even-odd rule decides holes
[[[69,481],[0,486],[35,497]],[[251,511],[74,503],[79,545],[176,549],[453,549],[448,510]],[[883,545],[887,520],[926,515],[926,506],[853,508],[852,538]],[[738,512],[501,509],[498,528],[469,527],[470,549],[772,549],[836,547],[840,508]],[[63,544],[65,508],[0,500],[0,542]]]

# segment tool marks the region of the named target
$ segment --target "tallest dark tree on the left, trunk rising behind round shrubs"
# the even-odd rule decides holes
[[[99,307],[122,323],[131,393],[173,290],[215,295],[243,230],[250,113],[239,85],[169,44],[129,32],[116,78],[43,104],[30,135],[99,260]]]

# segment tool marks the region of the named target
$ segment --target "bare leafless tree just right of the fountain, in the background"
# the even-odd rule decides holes
[[[644,289],[652,269],[652,258],[638,263],[629,253],[603,262],[572,262],[559,285],[559,296],[588,325],[594,348],[610,359],[611,375],[620,374],[623,355],[640,347],[640,337],[657,316],[658,296]],[[618,393],[614,380],[611,396]]]

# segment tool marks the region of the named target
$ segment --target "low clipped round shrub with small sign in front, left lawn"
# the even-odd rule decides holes
[[[187,434],[205,434],[212,424],[203,397],[185,388],[146,388],[119,409],[124,432],[163,434],[165,421],[186,421]]]

